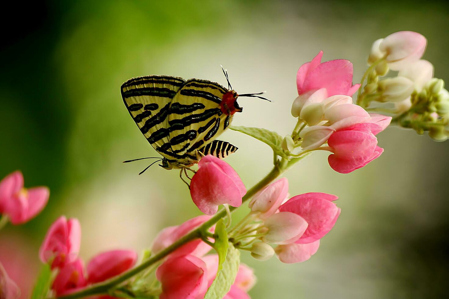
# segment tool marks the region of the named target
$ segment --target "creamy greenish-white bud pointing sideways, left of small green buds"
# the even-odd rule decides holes
[[[399,102],[409,97],[414,90],[414,83],[405,77],[385,78],[379,81],[380,101]]]

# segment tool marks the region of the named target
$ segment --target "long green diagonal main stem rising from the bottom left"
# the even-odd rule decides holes
[[[300,159],[295,159],[295,161],[299,161]],[[271,183],[273,180],[275,180],[282,172],[286,171],[288,168],[288,163],[285,158],[282,158],[280,163],[273,167],[273,169],[262,179],[254,185],[251,189],[247,191],[245,196],[242,198],[242,203],[246,202],[248,199],[250,199],[255,193],[257,193],[260,189],[264,188],[266,185]],[[232,212],[236,210],[236,207],[230,207],[229,210]],[[148,267],[150,267],[152,264],[158,262],[159,260],[163,259],[173,251],[175,251],[180,246],[184,245],[187,242],[190,242],[194,239],[201,238],[204,234],[203,232],[207,231],[212,225],[216,224],[218,220],[223,218],[226,215],[225,209],[221,209],[218,211],[214,216],[212,216],[211,219],[204,222],[201,226],[199,226],[197,229],[194,229],[190,233],[184,235],[180,239],[176,240],[172,245],[168,246],[167,248],[159,251],[149,259],[142,262],[140,265],[138,265],[135,268],[132,268],[131,270],[128,270],[125,273],[122,273],[119,276],[116,276],[114,278],[111,278],[110,280],[94,284],[92,286],[88,286],[87,288],[80,290],[78,292],[71,293],[69,295],[58,297],[58,299],[75,299],[75,298],[82,298],[92,295],[99,295],[99,294],[106,294],[109,289],[113,288],[114,286],[118,286],[120,283],[123,283],[124,281],[127,281],[137,273],[141,273]]]

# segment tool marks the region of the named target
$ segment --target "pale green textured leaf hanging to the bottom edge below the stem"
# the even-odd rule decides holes
[[[226,259],[220,264],[219,271],[204,299],[222,299],[231,289],[240,264],[240,251],[228,243]]]

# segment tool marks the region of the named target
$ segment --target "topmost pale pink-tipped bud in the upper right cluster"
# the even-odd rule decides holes
[[[417,32],[399,31],[384,38],[379,50],[386,53],[386,61],[392,70],[401,70],[423,56],[426,44],[426,38]]]

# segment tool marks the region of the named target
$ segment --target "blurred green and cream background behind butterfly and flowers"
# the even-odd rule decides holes
[[[428,39],[424,58],[449,81],[449,9],[432,1],[44,1],[10,3],[0,57],[0,177],[20,169],[26,186],[48,185],[48,206],[0,232],[0,262],[22,287],[39,269],[37,251],[59,215],[79,218],[84,260],[113,248],[150,246],[160,229],[199,215],[177,171],[152,167],[156,154],[123,106],[119,87],[165,74],[267,90],[272,103],[242,98],[233,125],[291,132],[295,74],[321,49],[350,59],[354,82],[371,43],[392,32]],[[15,7],[14,7],[15,6]],[[4,12],[5,13],[5,12]],[[317,153],[289,171],[292,195],[339,195],[341,216],[313,258],[259,262],[252,298],[445,298],[449,274],[449,141],[389,128],[385,153],[338,174]],[[250,187],[271,169],[268,146],[239,132],[227,158]],[[246,213],[246,207],[236,215]],[[15,270],[14,270],[15,269]]]

